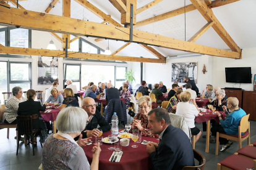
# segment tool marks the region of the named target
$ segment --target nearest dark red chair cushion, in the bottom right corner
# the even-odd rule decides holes
[[[254,160],[250,160],[249,158],[245,158],[244,156],[234,154],[228,156],[219,163],[234,170],[241,170],[254,167]]]

